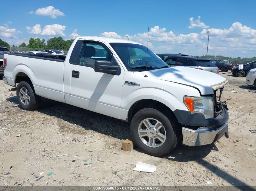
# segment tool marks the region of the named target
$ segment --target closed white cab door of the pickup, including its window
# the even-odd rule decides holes
[[[80,44],[77,59],[70,59],[71,105],[120,119],[124,70],[119,75],[95,72],[95,60],[118,65],[115,57],[103,43],[84,40]]]

